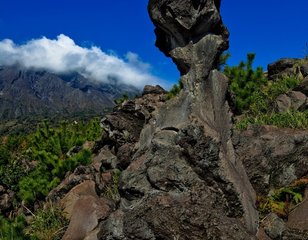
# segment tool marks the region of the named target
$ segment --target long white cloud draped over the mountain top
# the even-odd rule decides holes
[[[117,78],[136,87],[164,82],[151,74],[150,65],[142,62],[136,53],[128,52],[125,59],[121,59],[95,46],[80,47],[64,34],[57,39],[33,39],[23,45],[10,39],[0,41],[0,65],[14,64],[56,73],[77,71],[103,82]]]

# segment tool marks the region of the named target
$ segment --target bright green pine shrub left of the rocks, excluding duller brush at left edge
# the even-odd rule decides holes
[[[58,128],[51,128],[47,122],[41,124],[30,137],[27,155],[36,162],[36,167],[20,180],[20,198],[26,203],[43,199],[67,172],[79,165],[87,165],[91,152],[81,146],[100,134],[98,120],[88,124],[62,122]]]

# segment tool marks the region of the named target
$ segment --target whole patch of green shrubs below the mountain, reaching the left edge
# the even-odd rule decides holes
[[[17,192],[26,203],[43,199],[66,172],[89,163],[91,151],[82,145],[96,140],[101,132],[98,119],[61,122],[53,128],[45,121],[28,136],[2,137],[0,184]]]

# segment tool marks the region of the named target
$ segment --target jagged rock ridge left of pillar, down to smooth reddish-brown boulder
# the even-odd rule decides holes
[[[98,239],[98,223],[109,216],[120,200],[117,192],[110,196],[117,169],[125,169],[130,163],[143,125],[163,104],[165,94],[160,86],[146,86],[141,97],[117,106],[102,120],[105,132],[101,140],[94,146],[86,144],[95,152],[91,165],[77,167],[49,193],[48,198],[59,202],[70,219],[63,239]]]

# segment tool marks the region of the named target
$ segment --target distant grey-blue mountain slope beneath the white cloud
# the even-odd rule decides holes
[[[0,67],[0,120],[102,114],[124,93],[139,90],[118,81],[91,81],[76,72]]]

